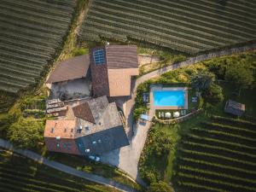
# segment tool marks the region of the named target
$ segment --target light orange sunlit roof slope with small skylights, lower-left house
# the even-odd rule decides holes
[[[46,120],[44,137],[74,138],[75,127],[74,119]]]

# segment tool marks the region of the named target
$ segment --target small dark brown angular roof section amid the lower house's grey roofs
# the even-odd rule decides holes
[[[88,102],[84,102],[83,104],[74,107],[73,113],[74,113],[75,117],[87,120],[90,123],[95,124],[95,119],[93,118],[93,114],[90,110],[90,106],[89,106]]]

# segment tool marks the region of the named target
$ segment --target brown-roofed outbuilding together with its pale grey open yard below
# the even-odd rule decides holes
[[[90,96],[90,55],[79,55],[61,61],[46,84],[52,99],[70,100]]]

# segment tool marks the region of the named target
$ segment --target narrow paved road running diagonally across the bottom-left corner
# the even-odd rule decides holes
[[[22,150],[22,149],[18,149],[18,148],[14,148],[14,146],[3,140],[0,139],[0,147],[2,148],[6,148],[10,151],[14,151],[17,154],[21,154],[23,156],[26,156],[29,159],[35,160],[39,163],[44,164],[45,166],[50,166],[56,170],[59,170],[61,172],[67,172],[68,174],[71,174],[73,176],[77,176],[77,177],[81,177],[87,180],[90,180],[92,182],[96,182],[96,183],[100,183],[103,185],[107,185],[108,187],[114,188],[114,189],[119,189],[120,191],[132,191],[132,192],[136,192],[135,189],[131,189],[121,183],[117,183],[111,179],[105,178],[105,177],[101,177],[101,176],[97,176],[94,174],[90,174],[90,173],[86,173],[86,172],[80,172],[76,169],[74,169],[71,166],[66,166],[63,165],[61,163],[56,162],[55,160],[47,160],[44,157],[40,156],[39,154],[36,154],[30,150]]]

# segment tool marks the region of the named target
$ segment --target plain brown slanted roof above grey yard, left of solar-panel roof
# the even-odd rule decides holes
[[[48,84],[84,78],[90,66],[90,55],[80,55],[60,62],[47,80]]]

